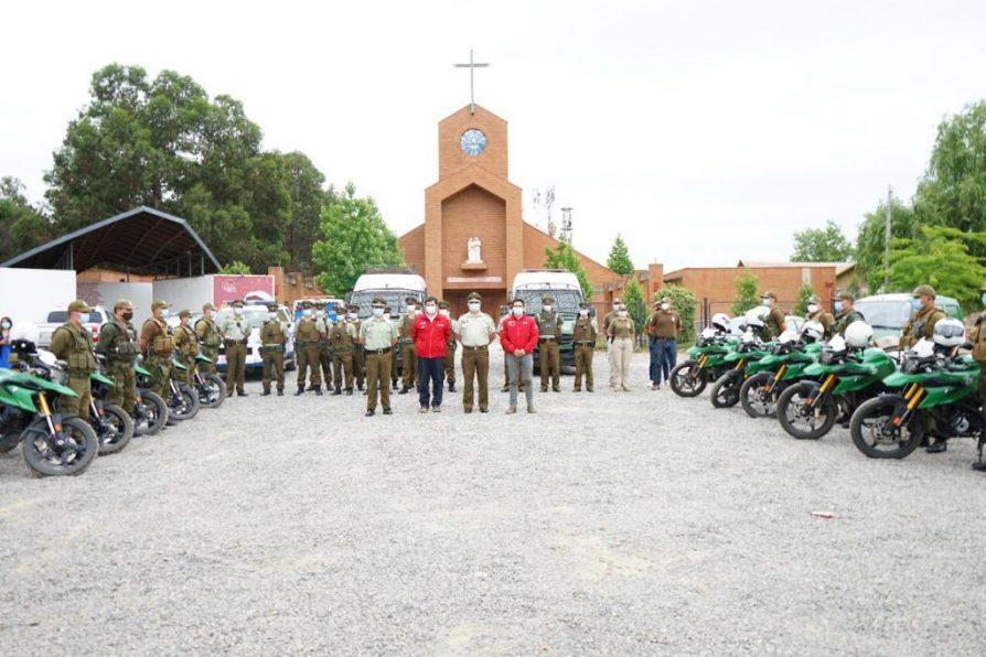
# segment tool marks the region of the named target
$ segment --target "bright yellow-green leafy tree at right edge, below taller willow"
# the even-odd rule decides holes
[[[967,310],[978,308],[986,267],[971,250],[986,245],[986,233],[921,226],[914,239],[890,243],[890,289],[910,291],[928,283],[935,292],[954,297]]]

